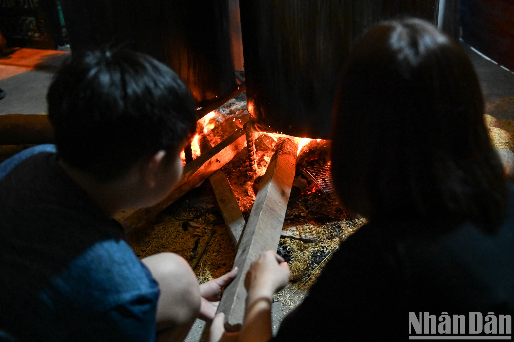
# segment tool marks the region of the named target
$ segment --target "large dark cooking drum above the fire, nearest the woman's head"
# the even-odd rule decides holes
[[[438,0],[241,1],[248,111],[263,130],[327,139],[338,74],[386,18],[437,23]]]

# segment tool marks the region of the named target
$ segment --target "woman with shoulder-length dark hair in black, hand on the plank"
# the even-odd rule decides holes
[[[463,50],[422,20],[378,24],[346,61],[336,99],[336,193],[369,223],[272,340],[406,339],[409,312],[434,322],[442,313],[513,315],[514,186],[488,140]],[[271,298],[288,280],[281,261],[267,252],[252,264],[240,340],[271,338]]]

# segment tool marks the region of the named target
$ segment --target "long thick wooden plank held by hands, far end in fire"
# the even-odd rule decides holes
[[[276,152],[261,180],[259,193],[246,224],[234,260],[239,273],[223,293],[219,312],[225,313],[225,329],[238,331],[245,317],[245,276],[250,264],[267,250],[276,251],[284,222],[287,202],[295,178],[298,146],[290,139],[280,138]]]

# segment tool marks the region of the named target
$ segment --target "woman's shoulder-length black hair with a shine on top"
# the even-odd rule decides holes
[[[430,23],[372,27],[346,61],[332,163],[343,206],[373,221],[471,220],[486,231],[507,205],[503,168],[464,51]]]

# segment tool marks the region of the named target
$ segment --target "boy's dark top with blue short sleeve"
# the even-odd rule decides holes
[[[154,340],[157,282],[57,155],[39,152],[0,180],[0,340]]]

